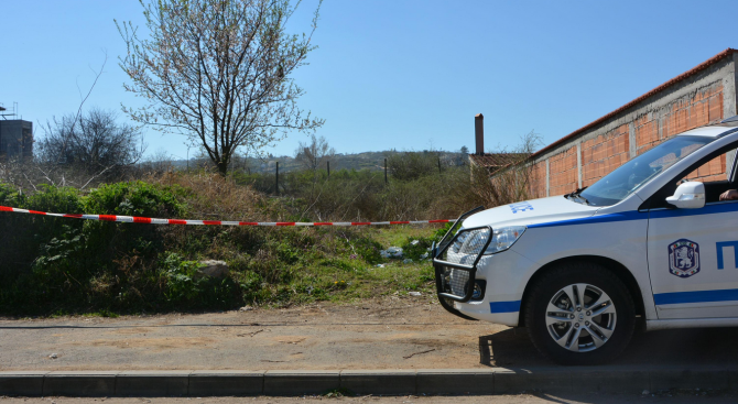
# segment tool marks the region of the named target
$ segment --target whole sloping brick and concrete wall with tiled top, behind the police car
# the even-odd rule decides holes
[[[688,129],[736,112],[736,63],[729,54],[638,103],[533,155],[532,197],[563,195],[588,186],[628,160]],[[723,155],[690,178],[724,179]]]

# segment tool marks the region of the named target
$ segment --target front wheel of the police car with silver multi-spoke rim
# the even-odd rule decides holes
[[[524,303],[535,348],[561,364],[597,364],[619,356],[636,328],[633,298],[606,267],[569,262],[535,280]]]

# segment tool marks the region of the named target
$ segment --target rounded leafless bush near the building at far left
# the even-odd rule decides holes
[[[135,164],[145,151],[143,137],[116,119],[116,112],[94,108],[47,121],[39,141],[39,160],[85,173],[115,172]]]

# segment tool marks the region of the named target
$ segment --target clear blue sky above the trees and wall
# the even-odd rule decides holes
[[[294,30],[308,29],[315,4],[303,2]],[[488,150],[531,130],[550,143],[738,47],[735,12],[735,1],[325,0],[319,48],[294,77],[338,152],[474,149],[479,112]],[[113,19],[142,24],[141,6],[0,0],[0,102],[18,101],[42,135],[41,123],[76,110],[105,50],[86,106],[139,106],[122,88]],[[185,157],[184,138],[144,131],[149,153]],[[301,140],[265,152],[292,155]]]

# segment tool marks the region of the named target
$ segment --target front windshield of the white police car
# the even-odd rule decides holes
[[[674,163],[712,142],[707,137],[676,137],[621,165],[604,176],[578,196],[574,201],[593,206],[610,206],[619,203],[641,185],[655,177]],[[569,194],[572,195],[572,194]]]

